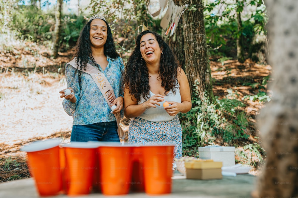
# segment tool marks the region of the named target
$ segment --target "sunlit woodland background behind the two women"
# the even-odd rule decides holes
[[[189,5],[170,36],[159,26],[161,17],[150,15],[159,9],[157,0],[0,1],[0,182],[30,176],[19,151],[25,143],[69,141],[72,118],[58,91],[66,88],[64,65],[86,18],[96,13],[110,24],[124,64],[142,24],[161,34],[176,54],[192,88],[193,108],[180,115],[183,156],[199,157],[198,147],[205,145],[235,146],[236,163],[259,174],[266,151],[256,116],[270,101],[267,85],[274,80],[266,59],[266,2],[174,3]],[[122,120],[126,132],[128,124]]]

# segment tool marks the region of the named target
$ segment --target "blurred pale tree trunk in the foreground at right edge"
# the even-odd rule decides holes
[[[258,197],[298,197],[298,23],[297,0],[266,1],[269,84],[272,100],[260,110],[258,127],[266,164],[259,177]]]

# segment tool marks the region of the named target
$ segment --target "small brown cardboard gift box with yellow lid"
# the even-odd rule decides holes
[[[221,179],[222,162],[193,160],[184,162],[187,179]]]

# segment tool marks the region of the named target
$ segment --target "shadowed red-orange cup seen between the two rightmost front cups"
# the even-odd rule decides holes
[[[145,181],[143,167],[142,148],[140,146],[133,147],[132,156],[132,178],[131,178],[131,191],[144,192]]]

